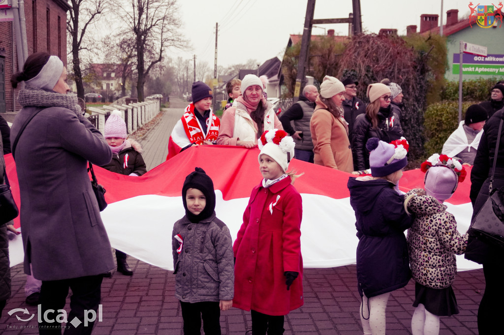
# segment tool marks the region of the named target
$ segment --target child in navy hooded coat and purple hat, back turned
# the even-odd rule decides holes
[[[350,205],[357,228],[357,283],[362,297],[360,320],[365,335],[385,335],[385,312],[390,293],[411,278],[404,230],[412,218],[404,195],[396,190],[408,163],[406,139],[387,143],[367,140],[371,176],[348,180]]]

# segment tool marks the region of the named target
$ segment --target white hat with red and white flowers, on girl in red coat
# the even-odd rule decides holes
[[[290,160],[294,157],[294,140],[284,130],[271,129],[261,135],[258,141],[258,160],[262,154],[273,158],[284,172],[287,172]]]

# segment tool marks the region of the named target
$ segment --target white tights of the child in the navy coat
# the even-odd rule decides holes
[[[385,310],[389,296],[390,292],[369,299],[365,294],[362,297],[359,314],[364,335],[385,335]]]

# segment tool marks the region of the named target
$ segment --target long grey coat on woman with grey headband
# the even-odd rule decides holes
[[[37,107],[19,111],[14,143]],[[24,269],[42,281],[102,274],[114,268],[110,242],[87,173],[87,161],[103,165],[112,152],[84,116],[50,107],[26,126],[15,148],[21,193]]]

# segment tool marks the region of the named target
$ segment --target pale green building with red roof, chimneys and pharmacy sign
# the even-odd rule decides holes
[[[500,21],[495,21],[490,28],[479,27],[474,20],[472,27],[469,19],[459,20],[459,11],[452,9],[446,12],[446,25],[443,25],[443,35],[447,36],[448,70],[445,77],[448,80],[459,80],[459,41],[485,46],[488,57],[470,54],[463,56],[464,79],[478,77],[504,77],[504,25],[499,28]],[[420,34],[428,36],[439,34],[437,14],[422,14],[420,16]],[[416,33],[416,26],[406,27],[406,34]]]

